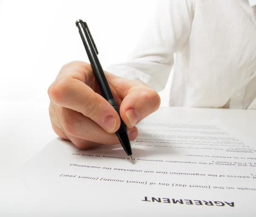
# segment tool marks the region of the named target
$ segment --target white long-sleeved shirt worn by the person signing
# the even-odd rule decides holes
[[[170,106],[256,109],[255,5],[160,0],[128,60],[107,71],[161,91],[173,68]]]

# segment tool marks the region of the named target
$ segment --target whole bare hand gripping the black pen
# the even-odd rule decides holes
[[[140,81],[105,74],[129,138],[134,140],[138,135],[135,124],[159,108],[160,97]],[[90,64],[75,61],[64,65],[48,95],[52,128],[58,136],[79,148],[119,143],[114,133],[120,126],[119,115],[101,96]]]

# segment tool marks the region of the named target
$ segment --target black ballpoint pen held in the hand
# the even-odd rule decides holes
[[[99,89],[101,91],[102,97],[104,97],[105,100],[107,100],[111,104],[111,106],[113,106],[113,108],[116,110],[116,112],[119,114],[121,124],[120,124],[120,128],[118,129],[118,131],[116,131],[116,135],[117,135],[122,147],[124,148],[126,154],[130,157],[131,161],[133,161],[132,151],[131,151],[131,143],[130,143],[130,140],[128,137],[127,127],[125,126],[125,123],[122,121],[122,118],[119,113],[119,106],[118,106],[115,98],[113,97],[113,94],[112,94],[111,89],[108,84],[108,80],[107,80],[105,73],[102,69],[102,66],[99,62],[99,58],[97,56],[99,54],[99,52],[98,52],[96,45],[93,41],[93,37],[90,34],[90,30],[89,30],[87,24],[83,20],[77,20],[76,26],[79,29],[79,34],[83,41],[84,48],[85,48],[87,56],[89,58],[96,81],[99,85]]]

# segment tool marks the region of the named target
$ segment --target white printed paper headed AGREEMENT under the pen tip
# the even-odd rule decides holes
[[[134,163],[120,145],[79,150],[61,139],[49,143],[20,171],[33,192],[21,212],[27,206],[31,216],[256,216],[255,143],[219,123],[138,128]]]

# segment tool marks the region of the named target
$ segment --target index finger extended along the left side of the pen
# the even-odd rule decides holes
[[[108,133],[117,131],[120,126],[120,118],[115,109],[84,83],[90,83],[88,79],[91,78],[87,74],[93,74],[93,72],[88,71],[87,68],[84,68],[84,71],[83,68],[75,70],[69,65],[63,68],[62,71],[64,72],[60,73],[48,89],[52,102],[58,106],[80,112]],[[81,81],[82,73],[84,73],[84,77],[87,77],[87,81],[86,79]]]

